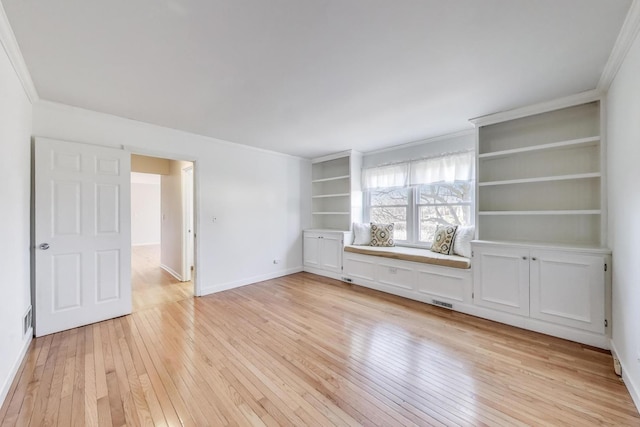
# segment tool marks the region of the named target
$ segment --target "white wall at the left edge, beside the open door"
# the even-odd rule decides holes
[[[31,103],[0,45],[0,405],[29,337],[22,318],[31,305]]]

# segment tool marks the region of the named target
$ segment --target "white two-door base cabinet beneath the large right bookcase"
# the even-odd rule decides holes
[[[593,249],[475,241],[474,304],[605,334],[608,260]]]

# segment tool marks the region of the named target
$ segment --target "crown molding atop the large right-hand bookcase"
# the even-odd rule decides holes
[[[507,120],[514,120],[522,117],[532,116],[534,114],[546,113],[547,111],[559,110],[561,108],[573,107],[574,105],[586,104],[587,102],[598,101],[601,98],[602,92],[598,89],[593,89],[564,98],[554,99],[552,101],[527,105],[526,107],[502,111],[495,114],[489,114],[487,116],[476,117],[473,119],[469,119],[469,121],[476,127],[487,126]]]

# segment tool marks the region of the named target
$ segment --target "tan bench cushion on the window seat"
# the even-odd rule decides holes
[[[344,247],[344,251],[352,252],[354,254],[381,256],[403,261],[441,265],[443,267],[471,268],[471,260],[469,258],[457,255],[438,254],[427,249],[405,248],[402,246],[394,246],[392,248],[389,248],[346,245]]]

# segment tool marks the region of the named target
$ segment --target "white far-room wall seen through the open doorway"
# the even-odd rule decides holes
[[[160,175],[131,173],[131,244],[160,244]]]

